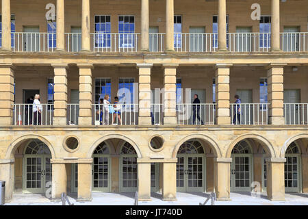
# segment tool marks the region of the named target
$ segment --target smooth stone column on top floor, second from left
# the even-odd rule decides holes
[[[57,0],[57,51],[64,51],[64,0]]]

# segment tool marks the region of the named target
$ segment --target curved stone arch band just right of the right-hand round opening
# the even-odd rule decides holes
[[[177,145],[175,146],[175,148],[172,151],[172,158],[177,158],[177,151],[179,151],[179,148],[182,144],[184,144],[185,142],[192,140],[194,138],[197,139],[197,140],[202,140],[204,142],[207,142],[209,144],[209,146],[211,147],[211,149],[213,149],[214,155],[216,157],[222,157],[222,153],[221,153],[221,151],[218,147],[218,144],[213,139],[209,138],[209,136],[205,136],[203,134],[195,133],[195,134],[191,134],[189,136],[186,136],[185,138],[182,138],[177,143]]]

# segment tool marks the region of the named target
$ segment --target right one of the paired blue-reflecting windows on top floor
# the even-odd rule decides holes
[[[118,16],[119,48],[135,47],[135,17]]]

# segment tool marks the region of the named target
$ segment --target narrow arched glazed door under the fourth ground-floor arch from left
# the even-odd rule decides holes
[[[253,153],[246,140],[235,144],[231,153],[230,191],[250,192],[253,177]]]

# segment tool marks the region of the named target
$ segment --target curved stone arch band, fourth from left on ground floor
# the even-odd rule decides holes
[[[270,155],[270,157],[276,157],[276,153],[272,147],[272,144],[266,138],[257,134],[244,134],[242,136],[239,136],[238,138],[235,138],[235,140],[233,140],[227,150],[226,157],[231,157],[232,149],[234,148],[235,144],[238,144],[238,142],[249,138],[256,140],[260,144],[264,145],[264,149],[266,153]]]

